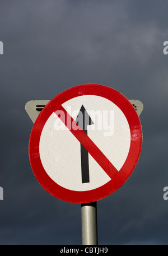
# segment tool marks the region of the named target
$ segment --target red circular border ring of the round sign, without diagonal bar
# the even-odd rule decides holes
[[[130,128],[130,148],[127,159],[119,172],[108,183],[88,191],[74,191],[61,187],[44,170],[40,160],[39,142],[43,127],[50,115],[67,100],[81,95],[105,97],[118,106],[127,118]],[[120,188],[132,174],[138,162],[142,148],[142,127],[136,110],[120,92],[104,85],[87,84],[74,86],[55,96],[40,112],[36,119],[29,141],[29,158],[36,179],[50,194],[63,201],[72,203],[90,203],[109,196]]]

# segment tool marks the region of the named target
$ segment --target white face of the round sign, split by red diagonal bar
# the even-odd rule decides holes
[[[112,101],[96,95],[73,97],[62,106],[74,120],[78,119],[81,108],[87,112],[92,120],[85,127],[87,136],[119,171],[130,148],[130,128],[122,110]],[[61,187],[74,191],[92,190],[108,183],[110,176],[90,153],[85,160],[85,164],[88,161],[89,166],[89,181],[82,182],[81,152],[78,139],[57,114],[51,113],[43,127],[39,143],[41,164],[49,177]]]

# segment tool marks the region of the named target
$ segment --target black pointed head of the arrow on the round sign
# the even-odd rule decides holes
[[[77,115],[76,123],[83,129],[83,131],[87,131],[87,125],[94,124],[83,105]]]

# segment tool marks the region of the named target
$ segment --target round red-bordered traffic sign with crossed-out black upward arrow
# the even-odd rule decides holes
[[[110,87],[87,84],[62,92],[39,111],[29,157],[50,194],[88,203],[124,184],[141,148],[141,122],[130,101]]]

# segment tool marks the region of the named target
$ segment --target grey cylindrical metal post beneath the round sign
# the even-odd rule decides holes
[[[97,245],[97,202],[81,204],[82,244]]]

